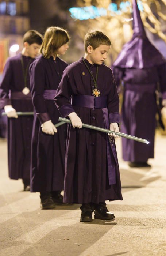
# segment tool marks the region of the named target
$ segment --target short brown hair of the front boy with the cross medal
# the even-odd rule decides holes
[[[101,31],[90,31],[85,35],[84,38],[84,46],[85,46],[85,52],[87,53],[87,47],[88,45],[91,45],[93,47],[93,50],[95,50],[100,45],[111,45],[111,41]]]

